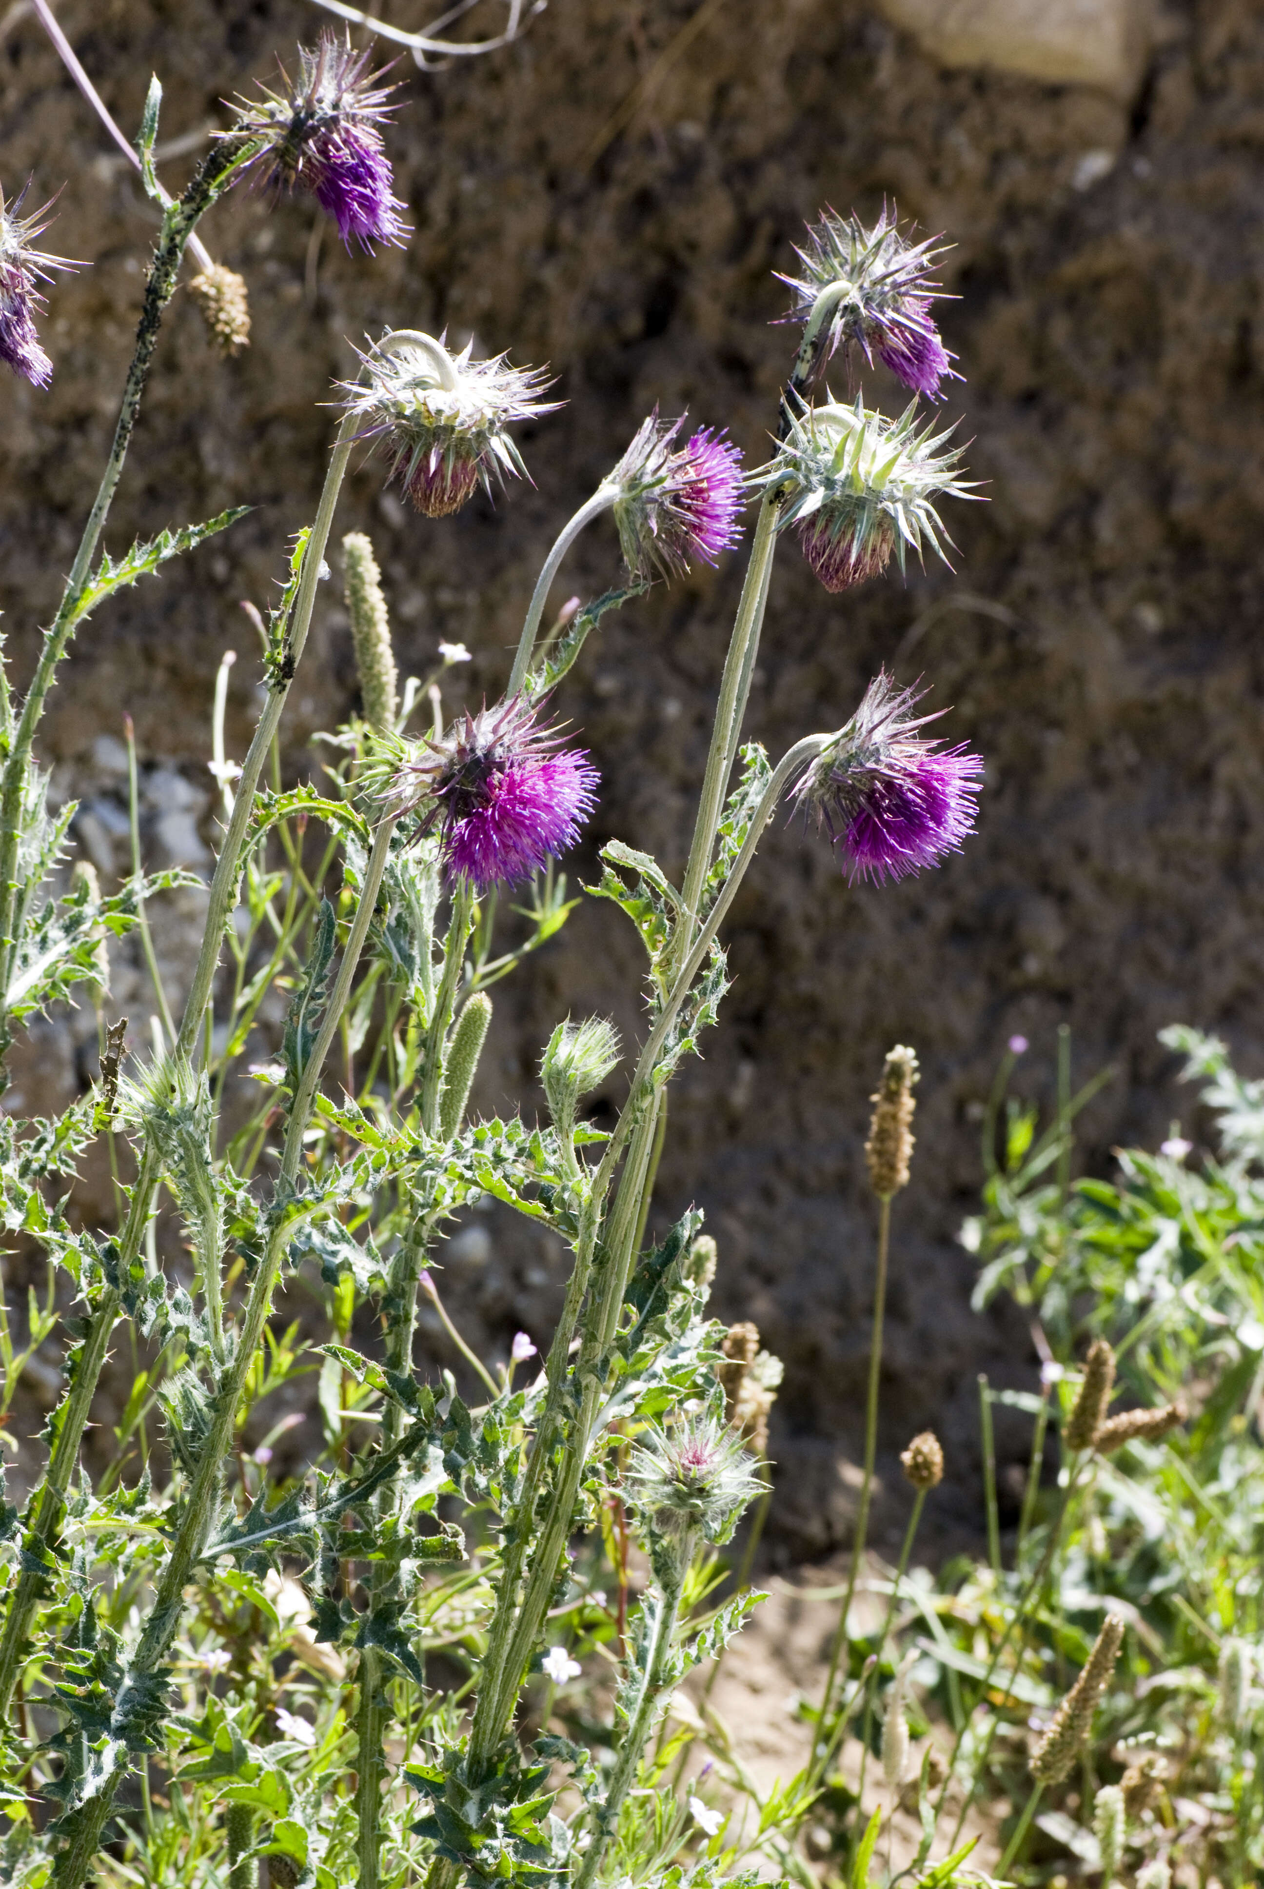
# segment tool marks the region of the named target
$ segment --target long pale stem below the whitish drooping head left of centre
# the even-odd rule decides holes
[[[302,570],[299,574],[299,591],[295,597],[295,610],[287,629],[287,652],[289,661],[285,665],[289,680],[276,676],[268,688],[268,699],[259,716],[255,727],[255,737],[242,763],[242,776],[238,780],[236,799],[232,803],[232,814],[229,818],[229,831],[225,833],[223,846],[219,848],[219,859],[215,861],[215,875],[210,886],[206,926],[202,931],[202,944],[198,950],[196,969],[193,973],[193,986],[185,1003],[185,1011],[179,1022],[179,1035],[176,1037],[176,1054],[195,1058],[202,1043],[202,1018],[210,1005],[212,984],[215,980],[215,969],[219,967],[219,950],[223,944],[225,924],[229,920],[229,910],[236,899],[238,880],[240,880],[240,861],[242,848],[246,844],[246,835],[255,810],[255,788],[259,786],[259,774],[263,773],[265,761],[270,754],[274,735],[280,727],[282,714],[285,710],[285,701],[289,697],[293,674],[299,667],[299,657],[302,655],[308,629],[312,625],[312,608],[316,604],[316,586],[319,582],[321,563],[325,557],[325,546],[329,542],[329,533],[333,527],[334,508],[338,504],[338,493],[342,489],[342,480],[346,476],[348,461],[351,457],[351,448],[355,444],[355,419],[348,414],[338,429],[338,438],[329,461],[329,472],[325,474],[325,487],[321,491],[321,501],[316,512],[316,521],[308,536]],[[89,553],[91,555],[91,553]],[[145,1147],[140,1162],[140,1173],[132,1186],[132,1198],[128,1205],[128,1215],[119,1234],[119,1277],[127,1279],[132,1260],[140,1252],[140,1243],[149,1222],[149,1211],[153,1205],[153,1196],[159,1186],[161,1171],[153,1145]],[[47,1543],[53,1530],[60,1523],[64,1498],[60,1490],[66,1487],[66,1477],[74,1470],[74,1462],[79,1453],[79,1443],[83,1439],[83,1428],[87,1424],[89,1405],[96,1390],[96,1379],[106,1358],[106,1343],[110,1332],[119,1317],[119,1294],[108,1290],[100,1300],[96,1311],[93,1313],[89,1336],[83,1347],[83,1360],[79,1375],[76,1377],[74,1394],[66,1409],[66,1419],[62,1422],[55,1462],[49,1464],[49,1483],[40,1494],[36,1515],[32,1519],[32,1536],[36,1543]],[[55,1473],[57,1468],[57,1473]],[[32,1543],[34,1545],[34,1543]],[[36,1549],[38,1553],[38,1549]],[[8,1617],[4,1623],[4,1636],[0,1636],[0,1717],[8,1711],[9,1698],[13,1694],[13,1685],[21,1670],[23,1649],[26,1636],[30,1632],[30,1623],[34,1619],[40,1602],[40,1575],[34,1568],[25,1570],[19,1575],[13,1598],[9,1602]]]

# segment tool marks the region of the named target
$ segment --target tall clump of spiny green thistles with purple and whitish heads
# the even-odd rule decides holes
[[[295,81],[238,108],[178,202],[153,179],[157,83],[149,94],[142,174],[162,232],[136,357],[34,680],[21,710],[8,691],[0,703],[4,1050],[26,1016],[77,984],[100,994],[102,939],[138,929],[144,941],[153,901],[187,884],[138,867],[119,892],[79,875],[62,895],[74,808],[45,814],[34,750],[87,614],[240,516],[164,533],[119,561],[98,557],[195,225],[236,181],[257,178],[278,213],[291,191],[312,191],[348,247],[402,242],[382,138],[395,104],[380,79],[346,38],[325,34],[300,49]],[[13,365],[40,385],[36,230],[11,213],[4,230],[15,246],[4,332]],[[221,669],[212,750],[223,839],[183,1005],[166,1001],[155,962],[168,1016],[161,1048],[132,1045],[121,1075],[111,1033],[93,1096],[55,1124],[15,1122],[0,1137],[6,1226],[32,1234],[81,1302],[43,1481],[21,1517],[0,1509],[13,1880],[79,1889],[125,1868],[145,1881],[246,1889],[263,1861],[272,1881],[302,1889],[348,1880],[589,1889],[631,1866],[646,1881],[676,1883],[686,1868],[699,1885],[716,1880],[720,1851],[703,1857],[695,1846],[699,1832],[718,1836],[722,1813],[693,1793],[684,1804],[663,1793],[671,1808],[650,1842],[642,1779],[659,1776],[654,1728],[667,1698],[724,1653],[761,1598],[744,1574],[731,1598],[709,1594],[720,1549],[767,1492],[758,1458],[780,1370],[754,1328],[707,1315],[718,1254],[701,1215],[646,1243],[667,1092],[718,1020],[722,929],[778,808],[812,808],[848,878],[901,878],[964,842],[981,769],[964,748],[926,740],[924,718],[911,714],[920,695],[886,674],[858,706],[839,705],[839,725],[803,733],[775,761],[744,740],[782,527],[824,531],[831,574],[877,574],[905,544],[939,548],[935,502],[965,489],[956,453],[939,453],[941,440],[913,417],[807,404],[807,366],[829,336],[882,355],[926,391],[947,370],[930,340],[922,253],[882,225],[858,289],[860,251],[845,247],[841,236],[811,244],[803,346],[771,416],[777,453],[750,487],[758,518],[682,884],[612,841],[588,888],[610,922],[616,909],[627,914],[646,948],[641,1041],[623,1048],[601,1018],[559,1018],[540,1064],[546,1122],[482,1118],[476,1098],[487,990],[565,924],[572,901],[559,861],[601,790],[567,731],[565,678],[608,610],[737,544],[746,499],[737,450],[714,425],[686,431],[684,419],[650,414],[550,550],[501,693],[463,705],[433,680],[433,720],[419,735],[408,722],[421,684],[399,689],[372,542],[346,533],[365,712],[323,737],[312,780],[287,784],[278,771],[263,786],[353,448],[380,444],[385,476],[421,514],[414,529],[442,531],[480,485],[525,472],[512,427],[550,410],[535,368],[506,353],[476,359],[472,344],[452,353],[416,329],[370,336],[357,378],[336,389],[321,501],[261,620],[263,706],[240,767],[225,752],[229,657]],[[240,346],[246,310],[232,281],[206,270],[198,280],[219,342]],[[845,306],[860,312],[845,319]],[[623,582],[567,606],[540,642],[571,544],[606,512]],[[463,654],[440,652],[444,688]],[[516,888],[525,920],[504,948],[501,888]],[[283,1024],[265,1005],[278,992]],[[599,1128],[582,1105],[620,1065],[622,1107]],[[913,1052],[892,1050],[871,1133],[882,1215],[909,1173],[914,1079]],[[130,1160],[110,1232],[76,1228],[59,1181],[98,1135]],[[179,1251],[168,1251],[159,1218],[166,1200]],[[446,1239],[484,1200],[571,1252],[554,1332],[520,1332],[491,1362],[465,1339],[442,1286]],[[278,1288],[291,1281],[323,1307],[327,1337],[316,1347],[278,1317]],[[427,1381],[416,1356],[423,1319],[438,1320],[459,1379]],[[121,1447],[153,1409],[164,1447],[144,1473],[128,1455],[93,1483],[81,1441],[119,1326],[153,1360]],[[272,1473],[283,1422],[265,1428],[259,1407],[308,1370],[323,1449]],[[918,1504],[941,1473],[931,1441],[909,1451]],[[871,1472],[871,1445],[867,1462]],[[612,1626],[580,1572],[610,1515],[623,1530]],[[639,1592],[629,1532],[650,1570]],[[854,1568],[862,1547],[863,1523]],[[907,1557],[899,1579],[905,1566]],[[572,1649],[599,1643],[618,1664],[608,1759],[550,1728],[554,1691],[584,1674]],[[461,1683],[440,1674],[436,1649],[459,1657]],[[299,1677],[282,1672],[285,1651]],[[901,1696],[888,1710],[892,1751],[907,1738]],[[780,1866],[812,1793],[803,1779],[741,1855],[726,1857],[724,1876],[746,1883]],[[183,1815],[189,1802],[195,1819]]]

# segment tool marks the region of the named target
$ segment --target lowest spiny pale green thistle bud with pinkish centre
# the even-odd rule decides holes
[[[701,1530],[727,1541],[763,1489],[741,1441],[712,1417],[673,1432],[648,1428],[633,1443],[627,1492],[661,1536]]]

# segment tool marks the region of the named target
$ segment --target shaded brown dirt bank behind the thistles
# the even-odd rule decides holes
[[[918,26],[971,6],[892,0],[888,13]],[[943,871],[880,892],[846,890],[829,850],[794,829],[769,837],[729,929],[737,982],[707,1060],[678,1084],[661,1171],[663,1220],[690,1198],[709,1213],[720,1311],[754,1317],[788,1364],[782,1553],[820,1553],[846,1528],[871,1283],[860,1145],[884,1048],[913,1043],[924,1067],[914,1184],[897,1207],[884,1464],[916,1426],[945,1434],[952,1477],[935,1500],[948,1530],[975,1519],[975,1371],[1030,1373],[1022,1326],[971,1315],[973,1269],[954,1245],[1007,1035],[1032,1039],[1032,1092],[1049,1086],[1064,1020],[1077,1073],[1115,1064],[1086,1118],[1090,1164],[1179,1109],[1190,1118],[1154,1043],[1164,1022],[1221,1028],[1247,1067],[1260,1062],[1264,15],[1249,0],[1069,9],[1085,15],[1079,68],[1041,55],[988,70],[973,60],[1024,60],[986,34],[975,55],[918,40],[854,0],[707,0],[701,15],[693,0],[552,0],[497,57],[401,66],[389,147],[416,227],[406,251],[348,257],[310,202],[270,210],[238,193],[212,217],[212,249],[249,281],[255,342],[219,361],[178,298],[110,540],[231,502],[255,512],[100,612],[42,742],[59,791],[83,797],[81,846],[121,869],[128,710],[151,858],[206,861],[215,665],[238,650],[229,746],[242,754],[259,671],[238,599],[266,603],[285,535],[312,514],[331,434],[321,402],[365,331],[474,334],[552,363],[567,400],[523,429],[535,489],[495,508],[431,525],[382,497],[378,465],[348,482],[338,533],[374,536],[401,665],[421,671],[438,638],[465,640],[476,699],[503,684],[552,533],[656,400],[727,423],[763,455],[792,348],[771,325],[786,300],[773,270],[792,264],[822,202],[871,213],[894,196],[954,238],[960,300],[943,319],[964,383],[948,416],[964,417],[990,502],[952,508],[956,574],[843,599],[788,544],[748,727],[782,750],[837,725],[879,663],[924,674],[954,705],[952,737],[988,759],[981,831]],[[999,11],[1013,25],[1030,9]],[[161,74],[174,140],[223,123],[219,100],[268,76],[274,53],[293,59],[327,15],[300,0],[62,0],[59,17],[128,132]],[[425,19],[416,0],[393,0],[389,17]],[[1103,21],[1132,40],[1111,53],[1107,34],[1098,60],[1090,28]],[[1079,83],[1054,83],[1066,70]],[[168,185],[191,149],[164,164]],[[13,191],[26,176],[36,202],[64,187],[53,247],[93,266],[51,291],[51,391],[0,383],[0,604],[23,684],[113,425],[153,225],[19,4],[0,9],[0,178]],[[565,587],[591,595],[614,567],[612,533],[597,529]],[[565,701],[605,778],[582,876],[612,835],[678,873],[739,582],[727,559],[589,644]],[[334,591],[295,689],[293,769],[353,699]],[[195,918],[196,895],[162,918],[174,980]],[[576,912],[503,986],[480,1105],[529,1086],[567,1007],[633,1033],[637,952],[610,907]],[[130,960],[115,997],[144,1035]],[[93,1071],[91,1016],[42,1026],[9,1101],[49,1107]],[[501,1345],[516,1326],[540,1336],[563,1254],[487,1224],[489,1241],[480,1222],[453,1251],[463,1315]],[[1024,1436],[1001,1430],[999,1443],[1016,1456]]]

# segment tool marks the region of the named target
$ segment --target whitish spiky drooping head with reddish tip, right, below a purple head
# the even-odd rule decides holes
[[[909,550],[930,546],[948,561],[950,538],[937,499],[975,497],[956,476],[962,448],[941,451],[948,433],[920,433],[916,404],[899,419],[829,400],[792,416],[777,459],[758,478],[786,485],[784,525],[799,527],[799,544],[828,591],[880,576],[892,553],[905,569]],[[950,429],[948,429],[950,431]]]

